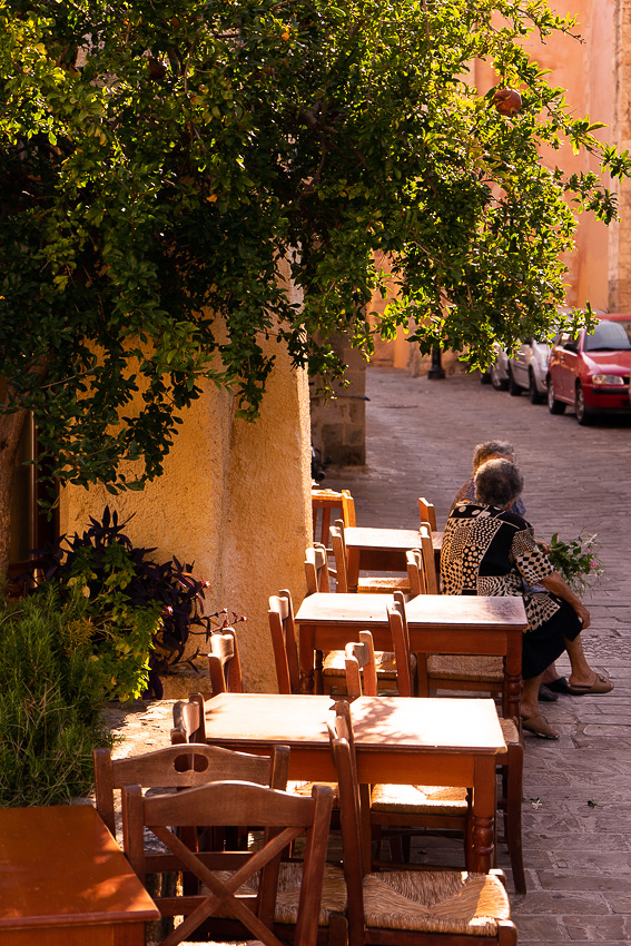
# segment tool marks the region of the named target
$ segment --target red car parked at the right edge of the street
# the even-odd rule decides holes
[[[561,332],[548,363],[548,410],[562,414],[570,404],[579,424],[599,413],[629,413],[630,375],[631,314],[599,316],[591,335]]]

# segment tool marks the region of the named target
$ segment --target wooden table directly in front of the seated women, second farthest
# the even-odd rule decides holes
[[[300,686],[314,689],[316,650],[343,650],[361,630],[377,650],[392,650],[387,622],[391,594],[309,594],[296,613]],[[521,598],[418,594],[405,604],[410,648],[415,653],[465,653],[504,658],[504,716],[520,715],[522,634],[528,628]]]

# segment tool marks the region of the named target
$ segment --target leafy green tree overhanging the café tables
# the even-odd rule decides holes
[[[520,46],[572,29],[545,0],[2,0],[4,487],[27,411],[57,481],[141,487],[204,378],[256,417],[265,336],[327,387],[333,333],[369,355],[414,316],[424,352],[482,365],[548,331],[570,204],[609,221],[615,201],[541,146],[630,167]],[[467,85],[475,58],[497,87]],[[375,250],[401,300],[372,327]]]

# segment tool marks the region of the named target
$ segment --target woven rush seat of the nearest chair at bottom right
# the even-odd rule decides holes
[[[509,897],[493,875],[467,871],[401,871],[364,878],[368,927],[495,936],[510,919]]]

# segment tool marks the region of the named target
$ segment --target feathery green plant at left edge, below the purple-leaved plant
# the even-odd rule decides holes
[[[92,785],[103,669],[86,635],[85,603],[0,599],[0,806],[59,805]]]

